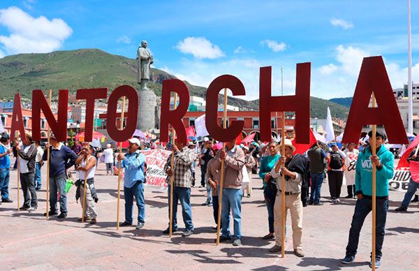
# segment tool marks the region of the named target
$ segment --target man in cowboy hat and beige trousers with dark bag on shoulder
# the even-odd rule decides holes
[[[293,155],[295,147],[291,140],[285,139],[285,153],[272,168],[271,175],[277,180],[277,198],[274,205],[274,228],[275,245],[269,251],[281,251],[282,240],[282,190],[285,190],[285,212],[289,209],[291,212],[291,224],[293,226],[293,247],[294,254],[298,257],[304,257],[302,252],[302,201],[301,186],[308,180],[309,159],[301,154]],[[281,144],[279,144],[281,146]],[[282,187],[281,176],[285,176],[285,187]]]

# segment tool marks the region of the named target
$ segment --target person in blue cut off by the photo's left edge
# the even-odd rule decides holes
[[[0,138],[0,191],[2,203],[13,203],[13,200],[8,198],[8,183],[10,180],[10,158],[11,152],[10,137],[7,133],[3,133]],[[0,203],[1,204],[1,203]]]

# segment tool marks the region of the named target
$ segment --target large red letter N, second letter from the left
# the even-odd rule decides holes
[[[35,141],[41,140],[41,110],[57,140],[67,141],[68,89],[59,90],[58,121],[52,114],[43,91],[41,89],[32,91],[32,136]]]

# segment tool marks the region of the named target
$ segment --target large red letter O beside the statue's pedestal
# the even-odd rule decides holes
[[[128,117],[126,119],[125,128],[119,130],[117,127],[117,105],[118,100],[122,96],[128,98]],[[122,108],[124,110],[124,108]],[[131,86],[123,85],[117,87],[108,100],[108,112],[106,114],[106,129],[109,133],[110,138],[117,142],[128,140],[133,136],[135,128],[137,128],[137,116],[138,116],[138,94],[137,91]],[[121,119],[121,122],[124,120]]]

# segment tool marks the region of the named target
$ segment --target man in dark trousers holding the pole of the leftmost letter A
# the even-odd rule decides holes
[[[35,160],[38,151],[31,133],[25,133],[22,143],[23,145],[19,145],[19,141],[15,140],[18,159],[20,159],[20,184],[24,198],[23,206],[20,209],[34,212],[38,209],[35,190]]]

